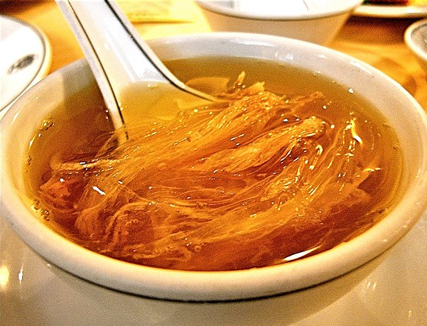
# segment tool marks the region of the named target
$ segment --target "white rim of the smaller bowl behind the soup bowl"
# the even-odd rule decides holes
[[[363,0],[343,0],[347,1],[345,6],[334,9],[326,9],[323,11],[307,11],[305,14],[298,15],[256,15],[246,12],[239,12],[226,6],[218,6],[215,2],[210,0],[195,0],[195,2],[202,8],[212,13],[222,14],[234,18],[245,18],[256,21],[308,21],[320,18],[327,18],[331,16],[339,16],[344,13],[350,13],[363,3]]]

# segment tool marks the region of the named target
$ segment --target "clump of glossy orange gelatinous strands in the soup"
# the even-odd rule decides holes
[[[322,94],[288,99],[242,78],[223,99],[61,163],[40,196],[83,246],[184,270],[283,263],[373,224],[380,202],[364,185],[381,153],[356,116],[332,124],[306,114]]]

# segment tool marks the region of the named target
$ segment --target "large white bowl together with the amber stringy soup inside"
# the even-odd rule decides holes
[[[426,114],[382,72],[275,36],[150,44],[220,101],[127,108],[119,143],[80,60],[1,121],[2,214],[55,266],[147,298],[318,307],[421,217]]]

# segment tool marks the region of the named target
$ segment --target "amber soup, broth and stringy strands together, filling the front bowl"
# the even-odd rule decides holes
[[[217,92],[237,70],[266,83],[246,87],[239,75],[222,102],[174,119],[147,117],[120,146],[99,99],[41,132],[30,148],[29,184],[36,208],[65,237],[146,266],[234,270],[328,250],[392,207],[399,144],[351,90],[253,59],[168,65]],[[209,76],[203,67],[212,67]],[[73,129],[97,114],[102,124],[84,135]]]

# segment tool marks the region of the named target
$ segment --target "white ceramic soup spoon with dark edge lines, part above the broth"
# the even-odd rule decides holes
[[[129,124],[125,92],[132,85],[173,86],[198,99],[215,98],[180,82],[139,37],[112,0],[56,0],[89,62],[115,129]],[[161,92],[161,91],[160,91]],[[156,99],[141,98],[142,102]],[[147,103],[145,103],[147,104]]]

